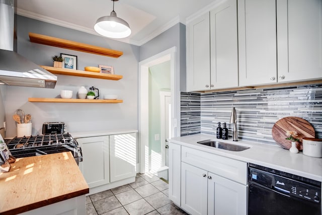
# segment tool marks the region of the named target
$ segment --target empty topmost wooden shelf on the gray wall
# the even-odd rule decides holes
[[[109,48],[102,48],[99,46],[89,45],[85,43],[74,42],[71,40],[60,39],[56,37],[50,37],[42,34],[36,34],[29,32],[30,42],[39,43],[43,45],[50,45],[60,48],[66,48],[76,51],[83,51],[92,54],[100,54],[109,57],[118,58],[123,54],[123,51],[117,51]]]

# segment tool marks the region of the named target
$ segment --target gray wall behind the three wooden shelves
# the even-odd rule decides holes
[[[112,58],[69,49],[31,43],[28,33],[38,33],[57,38],[97,45],[123,51],[119,58]],[[85,66],[112,65],[115,74],[123,75],[119,81],[91,79],[57,75],[55,89],[40,89],[7,86],[5,112],[7,120],[6,136],[16,135],[16,125],[12,119],[15,110],[20,108],[33,116],[33,134],[41,133],[43,122],[64,121],[69,132],[106,130],[117,128],[137,129],[138,100],[138,60],[139,47],[110,40],[100,36],[44,23],[18,16],[18,53],[40,65],[52,66],[51,56],[65,53],[77,56],[78,69]],[[73,98],[79,87],[91,86],[100,89],[101,99],[104,94],[116,94],[123,99],[120,104],[85,104],[85,103],[31,103],[29,97],[59,98],[60,90],[72,90]],[[3,91],[2,89],[0,89]],[[0,110],[1,100],[0,100]],[[2,112],[1,112],[2,113]],[[1,115],[0,115],[1,117]],[[0,123],[1,123],[0,118]]]

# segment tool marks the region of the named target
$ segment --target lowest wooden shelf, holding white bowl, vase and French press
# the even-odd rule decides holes
[[[61,98],[28,98],[29,102],[56,103],[123,103],[123,100],[112,99],[61,99]]]

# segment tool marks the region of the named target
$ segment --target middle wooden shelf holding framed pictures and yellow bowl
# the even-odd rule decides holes
[[[117,81],[123,78],[123,76],[121,75],[94,73],[94,71],[83,71],[83,70],[76,70],[71,68],[58,68],[58,67],[45,66],[45,65],[41,65],[41,67],[56,75],[78,76],[78,77],[106,79],[106,80],[114,80],[114,81]]]

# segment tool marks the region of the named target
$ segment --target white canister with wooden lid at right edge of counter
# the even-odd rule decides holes
[[[322,139],[303,138],[303,155],[322,158]]]

